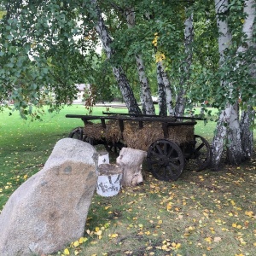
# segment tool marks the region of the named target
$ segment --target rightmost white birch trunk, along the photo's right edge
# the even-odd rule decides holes
[[[253,23],[255,22],[255,0],[246,0],[244,6],[244,13],[247,14],[247,17],[243,23],[242,32],[246,36],[243,40],[243,43],[238,48],[238,53],[246,52],[248,47],[253,46]],[[252,61],[255,65],[256,60]],[[246,63],[245,63],[246,65]],[[255,67],[250,67],[251,75],[256,80],[256,70]],[[246,104],[246,102],[245,102]],[[250,129],[250,125],[254,122],[254,114],[253,108],[247,106],[247,109],[241,112],[241,120],[240,120],[240,127],[241,127],[241,148],[243,157],[245,159],[250,159],[253,156],[253,131]]]

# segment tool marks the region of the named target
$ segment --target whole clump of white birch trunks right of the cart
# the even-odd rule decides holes
[[[243,23],[240,38],[241,46],[237,49],[236,55],[232,55],[232,51],[230,53],[227,51],[232,43],[230,27],[227,22],[228,1],[215,1],[215,3],[219,31],[220,68],[226,65],[221,86],[226,90],[225,95],[227,97],[226,107],[219,116],[216,134],[212,141],[212,166],[216,169],[224,147],[225,137],[227,137],[227,159],[230,164],[238,165],[252,154],[253,133],[249,130],[252,119],[249,116],[253,117],[253,112],[249,102],[254,102],[253,91],[255,91],[255,79],[253,79],[255,45],[252,41],[255,1],[248,0],[244,3],[243,15],[245,20],[241,20]],[[230,4],[230,10],[233,8],[232,4]],[[237,41],[237,32],[234,35]],[[234,46],[237,43],[235,39],[233,41],[230,49],[234,51]],[[249,54],[251,54],[250,57]],[[233,66],[227,66],[229,63],[233,63]],[[224,76],[224,72],[227,76]],[[242,108],[245,108],[245,112],[243,111],[241,114],[240,122],[238,96],[240,96]],[[252,115],[249,115],[250,112]]]

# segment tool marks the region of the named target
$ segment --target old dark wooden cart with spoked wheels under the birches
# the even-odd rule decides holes
[[[210,145],[207,140],[199,135],[194,134],[194,126],[196,125],[196,118],[183,117],[162,117],[156,115],[143,115],[143,114],[130,114],[130,113],[104,113],[102,116],[91,115],[78,115],[67,114],[67,118],[79,118],[86,125],[92,125],[91,120],[100,120],[102,136],[90,137],[84,131],[84,127],[76,127],[70,132],[69,137],[83,140],[91,145],[103,144],[109,152],[119,153],[119,150],[123,147],[130,147],[136,149],[143,149],[147,151],[147,163],[148,171],[152,172],[154,177],[164,181],[174,181],[183,172],[186,162],[195,162],[197,171],[205,169],[210,164]],[[181,121],[183,119],[183,121]],[[188,119],[184,121],[184,119]],[[109,122],[107,122],[109,121]],[[108,129],[108,124],[115,122],[118,124],[119,136],[117,139],[111,141],[107,137],[104,137],[104,131]],[[137,133],[144,131],[143,137],[150,142],[150,139],[154,139],[150,129],[154,124],[157,126],[158,132],[160,131],[161,137],[151,141],[148,144],[148,148],[140,148],[140,144],[136,144],[135,147],[129,145],[130,140],[125,140],[125,127],[137,126]],[[148,125],[149,124],[149,125]],[[148,126],[147,126],[148,125]],[[93,125],[91,127],[94,127]],[[189,139],[183,140],[183,134],[181,131],[190,127],[193,134],[189,135]],[[127,128],[128,129],[128,128]],[[190,131],[189,130],[189,131]],[[146,131],[146,134],[145,134]],[[155,128],[154,128],[155,131]],[[175,131],[176,138],[172,139],[172,132]],[[179,135],[180,132],[180,135]],[[170,134],[171,133],[171,134]],[[190,132],[191,133],[191,132]],[[171,138],[170,138],[171,137]],[[131,137],[130,137],[131,139]],[[177,143],[177,141],[180,141]]]

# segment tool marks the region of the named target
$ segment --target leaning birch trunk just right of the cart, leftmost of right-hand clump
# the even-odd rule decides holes
[[[228,0],[214,0],[215,10],[217,15],[218,26],[218,52],[219,52],[219,65],[221,66],[224,61],[224,50],[229,47],[231,42],[231,34],[228,22],[224,19],[224,15],[228,11]],[[225,81],[221,81],[220,86],[226,85]],[[216,127],[215,136],[212,140],[212,168],[218,169],[223,150],[224,140],[227,135],[226,126],[230,123],[232,106],[228,103],[226,108],[220,113]]]

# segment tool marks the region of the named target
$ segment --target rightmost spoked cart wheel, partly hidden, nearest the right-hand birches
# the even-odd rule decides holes
[[[211,161],[211,147],[204,137],[195,135],[195,147],[193,148],[191,161],[194,160],[197,172],[207,168]],[[190,160],[189,160],[190,161]]]

